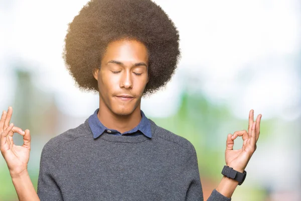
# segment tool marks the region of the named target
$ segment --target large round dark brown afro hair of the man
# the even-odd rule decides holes
[[[173,76],[181,57],[179,32],[160,6],[150,0],[91,0],[68,24],[63,59],[77,87],[98,91],[93,71],[100,68],[107,45],[134,39],[148,51],[149,81],[143,94],[152,94]]]

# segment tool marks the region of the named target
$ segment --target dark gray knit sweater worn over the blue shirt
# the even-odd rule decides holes
[[[43,200],[203,200],[197,155],[187,139],[152,120],[152,138],[103,133],[88,119],[42,150],[38,195]],[[215,189],[208,200],[229,201]]]

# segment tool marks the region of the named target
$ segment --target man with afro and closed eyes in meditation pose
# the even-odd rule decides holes
[[[63,57],[78,87],[99,93],[99,109],[44,146],[37,193],[27,172],[30,131],[10,125],[12,108],[3,113],[1,152],[19,199],[203,200],[193,145],[140,110],[142,95],[171,79],[179,56],[178,31],[152,1],[96,0],[83,7],[69,24]],[[226,165],[235,175],[245,175],[260,118],[253,122],[251,110],[248,132],[227,137]],[[24,136],[23,146],[13,144],[15,132]],[[233,150],[238,136],[243,147]],[[231,200],[243,180],[228,177],[208,200]]]

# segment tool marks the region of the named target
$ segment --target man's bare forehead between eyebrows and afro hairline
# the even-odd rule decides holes
[[[118,40],[110,42],[106,48],[104,60],[116,59],[122,61],[148,60],[147,48],[137,40]]]

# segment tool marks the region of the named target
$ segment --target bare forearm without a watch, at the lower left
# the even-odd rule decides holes
[[[38,201],[40,200],[33,183],[29,177],[28,171],[21,175],[12,176],[13,184],[20,201]]]

